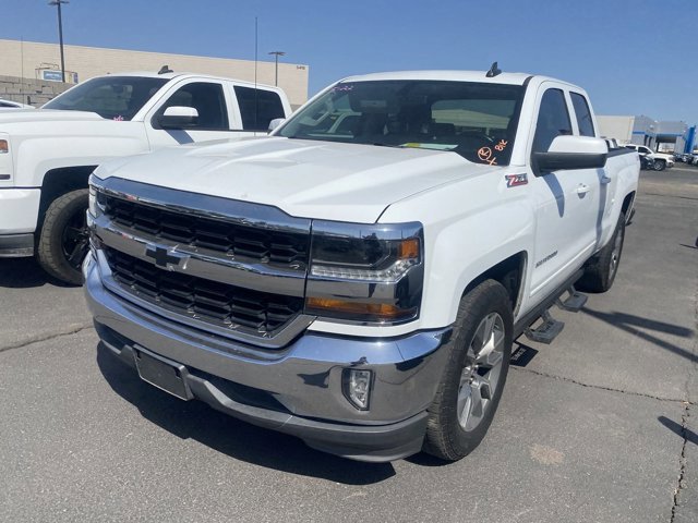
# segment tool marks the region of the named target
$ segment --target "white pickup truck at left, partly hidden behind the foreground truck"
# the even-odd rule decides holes
[[[165,146],[266,134],[290,114],[277,87],[198,74],[96,77],[36,111],[0,111],[0,257],[37,255],[81,283],[87,179],[103,161]]]

